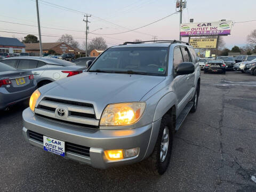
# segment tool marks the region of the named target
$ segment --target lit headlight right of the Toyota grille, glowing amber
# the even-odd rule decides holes
[[[122,126],[134,124],[140,119],[145,107],[145,102],[109,104],[102,113],[100,126]]]

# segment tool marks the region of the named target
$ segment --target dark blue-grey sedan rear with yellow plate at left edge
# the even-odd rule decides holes
[[[28,99],[35,90],[30,70],[17,70],[0,62],[0,110]]]

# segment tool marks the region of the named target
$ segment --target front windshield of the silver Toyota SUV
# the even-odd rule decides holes
[[[168,47],[120,47],[105,51],[89,71],[106,73],[166,74]]]

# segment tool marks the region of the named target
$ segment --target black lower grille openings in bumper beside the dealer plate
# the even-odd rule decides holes
[[[43,135],[34,131],[28,131],[29,138],[41,142],[43,144]],[[75,143],[65,142],[65,152],[71,152],[74,154],[90,157],[90,147],[77,145]]]

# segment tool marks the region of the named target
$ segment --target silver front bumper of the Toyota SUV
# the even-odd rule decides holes
[[[59,139],[66,143],[90,148],[90,155],[85,156],[66,151],[65,157],[101,169],[140,162],[148,157],[154,149],[157,138],[157,135],[153,137],[151,134],[159,130],[161,123],[161,119],[159,119],[154,123],[137,129],[101,130],[50,121],[49,119],[34,115],[29,108],[23,111],[22,117],[23,136],[31,145],[43,148],[43,142],[31,138],[29,131]],[[137,156],[121,160],[109,161],[104,154],[104,150],[131,149],[136,147],[139,147]]]

